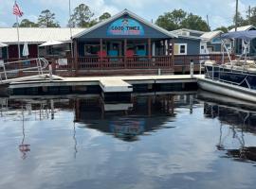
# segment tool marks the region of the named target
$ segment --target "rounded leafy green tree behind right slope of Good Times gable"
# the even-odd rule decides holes
[[[174,9],[172,12],[165,12],[160,15],[155,24],[161,26],[169,31],[181,28],[181,23],[186,18],[187,12],[182,9]]]

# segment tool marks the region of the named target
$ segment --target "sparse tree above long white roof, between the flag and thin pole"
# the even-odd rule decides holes
[[[60,27],[59,23],[55,21],[55,13],[49,9],[45,9],[38,17],[38,26],[41,27]]]

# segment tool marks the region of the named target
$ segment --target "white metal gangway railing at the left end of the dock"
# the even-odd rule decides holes
[[[0,80],[8,80],[9,74],[34,71],[38,75],[43,75],[43,70],[48,66],[45,58],[31,60],[16,60],[4,62],[0,60]]]

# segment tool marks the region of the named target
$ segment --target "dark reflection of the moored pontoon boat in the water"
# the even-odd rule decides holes
[[[208,95],[201,95],[207,97]],[[218,95],[218,100],[224,96]],[[216,99],[204,103],[204,114],[208,118],[217,118],[220,125],[220,137],[217,144],[218,150],[225,150],[225,157],[235,161],[256,163],[256,146],[247,145],[245,132],[256,135],[256,112],[252,104],[240,107],[238,101],[233,99],[233,106],[229,102],[216,104]],[[249,106],[247,106],[249,105]],[[230,145],[232,144],[232,145]]]

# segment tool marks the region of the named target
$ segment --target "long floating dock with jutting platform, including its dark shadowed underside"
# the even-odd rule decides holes
[[[191,75],[125,77],[58,77],[39,75],[3,80],[11,94],[101,94],[104,98],[128,99],[132,93],[196,91],[197,77]]]

